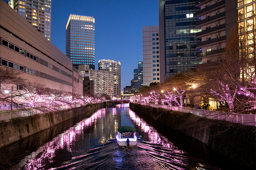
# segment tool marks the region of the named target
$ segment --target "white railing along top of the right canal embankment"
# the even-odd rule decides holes
[[[150,103],[139,103],[139,102],[131,102],[131,103],[152,106],[154,108],[163,108],[163,109],[169,109],[174,111],[180,111],[184,113],[191,113],[193,115],[203,116],[209,119],[226,120],[233,123],[256,126],[256,115],[245,115],[245,114],[237,114],[237,113],[229,113],[229,112],[221,112],[221,111],[184,108],[184,107],[161,105],[161,104],[150,104]]]

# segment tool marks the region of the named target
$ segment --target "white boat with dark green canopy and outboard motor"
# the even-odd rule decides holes
[[[121,126],[117,129],[117,144],[119,146],[127,146],[136,145],[137,144],[137,137],[135,128],[130,126]]]

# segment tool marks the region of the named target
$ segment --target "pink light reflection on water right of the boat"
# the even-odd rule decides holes
[[[149,126],[143,119],[139,118],[138,116],[135,115],[135,112],[130,110],[129,112],[130,117],[133,121],[136,122],[136,124],[141,127],[141,129],[148,134],[149,137],[149,143],[154,143],[154,144],[161,144],[163,147],[166,148],[175,148],[173,143],[169,142],[167,138],[164,136],[161,136],[159,133],[154,131],[154,128]],[[177,152],[182,152],[180,150],[177,150]]]

